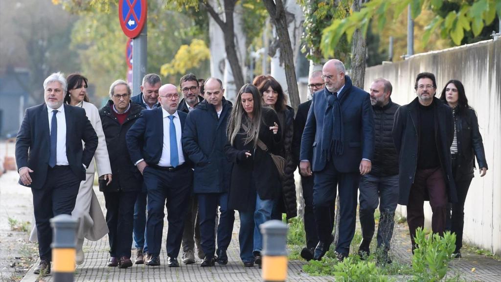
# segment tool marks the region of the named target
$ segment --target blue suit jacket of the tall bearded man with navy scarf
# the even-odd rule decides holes
[[[312,163],[312,171],[325,168],[322,158],[322,132],[327,109],[327,89],[315,93],[308,112],[305,130],[301,139],[301,160]],[[372,160],[374,155],[374,113],[369,93],[352,85],[345,76],[343,91],[338,94],[343,115],[343,154],[334,156],[334,166],[340,173],[358,172],[362,159]]]

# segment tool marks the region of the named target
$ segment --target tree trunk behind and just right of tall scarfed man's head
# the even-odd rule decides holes
[[[355,0],[353,2],[353,11],[360,11],[360,6],[366,0]],[[364,88],[364,78],[365,78],[365,54],[366,54],[366,42],[365,37],[360,29],[357,29],[353,34],[352,45],[351,45],[351,80],[353,85]]]

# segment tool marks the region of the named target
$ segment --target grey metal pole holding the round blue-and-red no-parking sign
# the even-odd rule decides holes
[[[132,39],[132,96],[141,93],[142,79],[146,74],[146,51],[148,20],[144,23],[143,30],[138,37]]]

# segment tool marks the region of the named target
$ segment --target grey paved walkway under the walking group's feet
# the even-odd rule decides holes
[[[95,187],[97,189],[97,187]],[[104,207],[102,193],[96,193]],[[105,212],[105,211],[103,211]],[[237,214],[237,213],[236,213]],[[164,225],[165,228],[167,224]],[[180,267],[169,268],[166,263],[165,246],[161,253],[161,266],[148,267],[145,265],[133,265],[127,269],[107,267],[108,260],[108,237],[105,236],[97,242],[86,240],[84,251],[86,259],[84,264],[78,265],[75,281],[261,281],[261,269],[258,267],[243,267],[239,259],[238,251],[238,228],[239,221],[235,220],[233,228],[233,240],[228,249],[228,264],[224,266],[200,267],[201,260],[197,263]],[[359,227],[357,227],[360,230]],[[165,231],[165,230],[164,230]],[[164,232],[166,234],[166,232]],[[165,237],[163,238],[165,243]],[[355,251],[355,250],[352,250]],[[463,258],[454,259],[448,275],[456,274],[466,281],[501,281],[501,262],[484,255],[464,251]],[[134,255],[134,253],[133,253]],[[411,251],[409,233],[406,224],[397,224],[392,240],[391,255],[394,261],[404,264],[411,263]],[[181,254],[179,261],[181,261]],[[37,262],[38,263],[38,262]],[[331,276],[310,276],[302,271],[305,261],[289,261],[288,281],[334,281]],[[472,268],[475,270],[472,271]],[[33,274],[33,268],[27,273],[23,281],[33,282],[37,275]],[[407,280],[405,276],[392,276],[399,281]],[[52,281],[52,275],[44,278],[44,281]]]

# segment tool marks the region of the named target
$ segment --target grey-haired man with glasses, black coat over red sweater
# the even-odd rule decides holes
[[[106,223],[110,241],[108,266],[125,268],[132,266],[130,260],[134,203],[143,185],[139,170],[132,163],[125,142],[125,134],[141,116],[143,109],[130,102],[131,90],[123,80],[113,82],[108,104],[100,111],[103,131],[110,157],[113,181],[106,185],[99,181],[99,191],[106,202]]]

